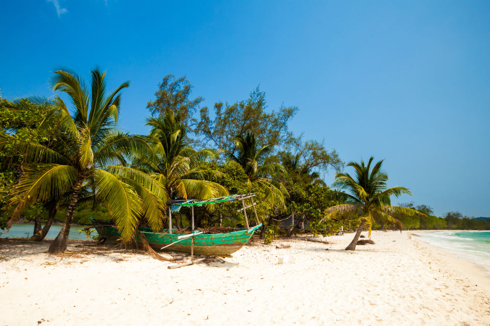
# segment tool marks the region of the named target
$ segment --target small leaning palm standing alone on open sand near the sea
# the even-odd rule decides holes
[[[414,216],[418,213],[406,207],[391,206],[390,196],[411,195],[410,190],[398,186],[387,189],[388,175],[381,170],[383,160],[378,161],[371,170],[373,159],[372,156],[369,158],[368,165],[365,165],[362,159],[360,164],[347,163],[347,166],[355,169],[355,177],[347,173],[335,174],[334,187],[347,189],[349,193],[341,193],[347,197],[346,204],[328,208],[327,217],[356,217],[360,220],[356,235],[345,250],[356,249],[357,241],[365,226],[368,227],[370,237],[371,226],[375,220],[394,223],[401,230],[403,224],[393,216],[397,214]]]

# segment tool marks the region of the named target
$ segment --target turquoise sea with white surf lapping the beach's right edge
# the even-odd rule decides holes
[[[490,274],[489,231],[442,231],[418,233],[422,240],[453,253],[458,258],[483,266]]]

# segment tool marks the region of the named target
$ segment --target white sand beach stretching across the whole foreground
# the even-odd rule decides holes
[[[0,242],[0,325],[490,324],[490,276],[471,263],[407,231],[373,232],[374,245],[346,252],[352,236],[255,240],[225,262],[177,269]]]

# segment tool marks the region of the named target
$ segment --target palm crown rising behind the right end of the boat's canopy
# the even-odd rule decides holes
[[[235,137],[234,141],[238,155],[226,150],[225,152],[232,162],[242,167],[248,177],[249,187],[256,183],[264,191],[265,199],[271,206],[284,206],[284,196],[288,196],[288,191],[282,183],[272,178],[277,172],[284,171],[284,168],[280,164],[265,163],[272,145],[259,147],[251,131],[245,137]]]

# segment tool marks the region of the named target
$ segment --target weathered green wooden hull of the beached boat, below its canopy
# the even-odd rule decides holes
[[[98,220],[90,218],[92,224],[97,229],[99,239],[117,240],[121,238],[118,229],[109,226],[108,221]],[[194,236],[194,254],[196,255],[210,255],[210,256],[230,256],[235,251],[242,248],[248,240],[252,237],[255,230],[262,226],[262,223],[246,228],[239,231],[228,233],[216,233],[216,234],[199,234]],[[182,236],[181,234],[169,234],[167,229],[163,229],[162,233],[155,233],[150,228],[139,228],[139,231],[143,233],[147,238],[148,244],[155,250],[161,250],[162,247],[168,246],[163,249],[165,251],[179,251],[191,253],[191,238],[177,239]],[[172,230],[176,232],[177,230]],[[197,231],[195,231],[197,232]],[[136,235],[136,242],[141,243],[141,237]]]

